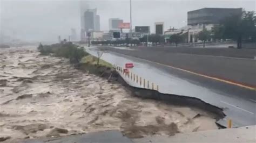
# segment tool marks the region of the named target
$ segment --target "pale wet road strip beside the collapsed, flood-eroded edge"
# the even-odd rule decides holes
[[[97,56],[96,49],[87,49],[87,52]],[[152,82],[154,89],[156,89],[156,85],[159,85],[159,92],[196,97],[223,108],[227,116],[218,121],[223,126],[227,125],[227,119],[233,120],[234,127],[256,124],[255,90],[215,81],[123,54],[104,53],[102,59],[123,68],[125,63],[133,63],[134,68],[130,69],[130,72],[142,77],[142,82],[144,78],[146,81],[149,80],[150,88],[152,88]],[[123,77],[131,86],[143,88],[143,83],[140,85],[130,77],[124,75]]]

